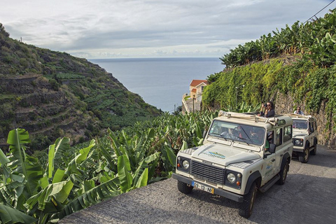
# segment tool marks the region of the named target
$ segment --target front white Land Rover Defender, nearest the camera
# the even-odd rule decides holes
[[[286,181],[293,152],[293,120],[262,118],[257,113],[220,111],[204,145],[179,151],[176,173],[181,193],[193,188],[241,202],[239,214],[251,216],[257,190]]]

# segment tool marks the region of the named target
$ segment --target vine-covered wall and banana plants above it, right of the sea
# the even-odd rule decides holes
[[[293,97],[293,107],[304,105],[309,113],[318,113],[325,102],[325,111],[335,122],[335,33],[336,9],[324,18],[305,24],[295,22],[273,35],[239,45],[221,57],[226,69],[208,76],[210,85],[202,96],[204,106],[235,108],[236,99],[238,104],[250,105],[276,102],[280,92]]]

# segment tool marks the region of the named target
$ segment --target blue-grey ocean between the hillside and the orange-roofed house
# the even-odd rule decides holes
[[[139,94],[148,104],[172,113],[189,94],[193,79],[224,69],[217,57],[89,59],[112,73],[127,90]]]

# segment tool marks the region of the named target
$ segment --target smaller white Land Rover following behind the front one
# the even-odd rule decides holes
[[[288,116],[293,119],[293,156],[297,156],[300,162],[306,163],[309,155],[316,155],[316,118],[294,113]]]

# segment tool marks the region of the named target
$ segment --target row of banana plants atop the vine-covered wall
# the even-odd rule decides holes
[[[281,55],[301,53],[320,67],[329,67],[336,61],[336,8],[324,18],[312,22],[295,22],[291,27],[276,29],[272,34],[262,35],[256,41],[238,45],[221,57],[227,69],[262,61]]]

